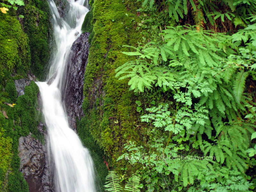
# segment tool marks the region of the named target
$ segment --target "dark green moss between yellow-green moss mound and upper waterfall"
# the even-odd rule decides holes
[[[30,69],[39,80],[44,80],[51,54],[49,5],[47,1],[27,0],[25,6],[20,8],[20,13],[25,15],[24,30],[28,34],[31,51]]]

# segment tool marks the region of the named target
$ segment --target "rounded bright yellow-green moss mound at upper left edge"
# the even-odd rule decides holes
[[[15,17],[0,14],[0,21],[0,76],[3,80],[6,71],[26,73],[30,66],[30,50],[28,37]]]

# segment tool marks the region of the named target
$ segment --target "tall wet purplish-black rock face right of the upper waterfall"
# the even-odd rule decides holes
[[[81,34],[73,43],[69,62],[66,68],[62,87],[62,95],[65,103],[68,122],[71,128],[76,131],[76,117],[79,119],[84,115],[82,109],[84,70],[87,65],[89,53],[89,33]]]

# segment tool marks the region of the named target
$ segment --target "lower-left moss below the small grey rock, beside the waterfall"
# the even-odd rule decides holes
[[[6,88],[13,90],[13,80],[6,83]],[[12,87],[12,88],[11,88]],[[5,88],[5,91],[8,90]],[[10,93],[5,95],[7,100],[11,100]],[[10,171],[8,177],[8,186],[2,186],[9,188],[9,191],[28,191],[27,184],[22,174],[19,172],[20,158],[18,156],[18,145],[20,136],[27,136],[29,132],[32,136],[37,139],[44,141],[42,133],[37,130],[37,125],[41,119],[40,113],[36,110],[37,104],[37,93],[39,89],[35,82],[31,82],[29,86],[25,87],[25,94],[18,97],[16,105],[9,107],[3,103],[0,103],[0,111],[5,111],[8,119],[0,112],[0,169],[3,174],[7,170]],[[2,92],[3,93],[3,92]],[[14,92],[13,92],[14,93]],[[17,95],[17,92],[15,90]],[[3,94],[4,95],[4,94]],[[14,94],[15,95],[15,94]],[[2,131],[1,131],[2,130]],[[0,180],[0,184],[6,182],[4,177]],[[1,188],[1,185],[0,185]]]

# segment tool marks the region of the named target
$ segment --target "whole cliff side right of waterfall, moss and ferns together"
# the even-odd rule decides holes
[[[255,79],[255,33],[247,14],[255,3],[141,3],[135,17],[132,1],[92,5],[83,109],[93,139],[117,172],[141,175],[143,191],[248,191],[255,110],[246,83]],[[229,36],[237,23],[249,28]]]

